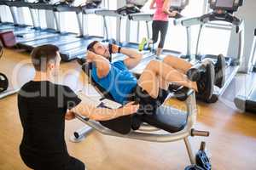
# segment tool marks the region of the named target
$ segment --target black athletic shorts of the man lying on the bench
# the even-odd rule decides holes
[[[159,95],[156,99],[152,98],[143,88],[137,85],[131,93],[130,101],[135,101],[140,105],[137,114],[154,114],[156,109],[162,105],[168,96],[168,92],[159,88]]]

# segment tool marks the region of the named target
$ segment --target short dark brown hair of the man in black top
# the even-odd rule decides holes
[[[32,64],[36,71],[46,71],[49,61],[56,60],[59,48],[55,45],[42,45],[32,50]]]

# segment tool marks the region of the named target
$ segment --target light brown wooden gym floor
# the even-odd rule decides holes
[[[5,50],[0,71],[12,77],[12,86],[20,87],[33,76],[30,58],[25,53]],[[61,64],[61,83],[74,90],[86,88],[86,77],[75,62]],[[90,93],[90,91],[88,91]],[[20,159],[19,144],[22,128],[18,116],[16,95],[0,100],[0,169],[28,169]],[[191,138],[194,150],[202,140],[213,169],[256,169],[256,115],[241,113],[224,99],[213,105],[199,104],[196,128],[211,132],[209,138]],[[70,155],[84,161],[89,170],[182,170],[189,165],[183,141],[150,143],[119,139],[90,133],[81,143],[69,141],[73,131],[83,123],[66,123],[66,141]]]

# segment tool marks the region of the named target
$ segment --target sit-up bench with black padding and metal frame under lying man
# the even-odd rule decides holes
[[[96,90],[102,94],[103,98],[98,101],[98,106],[108,106],[108,99],[112,99],[111,95],[102,89],[94,80],[90,77],[90,65],[84,64],[83,69],[89,76],[89,82],[91,85],[96,87]],[[86,127],[79,129],[74,132],[74,142],[78,142],[80,139],[90,133],[91,130],[96,130],[99,133],[116,136],[127,139],[138,139],[150,142],[173,142],[177,140],[183,140],[186,149],[189,154],[189,160],[192,164],[195,164],[195,154],[189,143],[189,136],[209,136],[208,132],[197,131],[193,127],[196,122],[197,108],[195,100],[194,90],[187,89],[182,91],[183,94],[177,90],[173,91],[169,95],[170,98],[181,97],[183,95],[184,102],[186,103],[186,111],[180,111],[172,108],[171,106],[162,105],[158,108],[154,115],[143,115],[143,123],[137,130],[131,130],[126,134],[118,133],[108,128],[107,122],[96,122],[92,121],[84,116],[76,115],[76,117],[84,122]],[[178,96],[177,96],[178,94]],[[90,100],[90,99],[89,99]],[[90,101],[89,101],[90,102]],[[112,101],[113,102],[113,101]],[[109,107],[109,106],[108,106]],[[116,120],[109,121],[111,123]],[[119,127],[122,128],[122,127]],[[159,133],[165,131],[165,133]]]

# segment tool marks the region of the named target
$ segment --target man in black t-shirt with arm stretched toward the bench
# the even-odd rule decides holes
[[[135,113],[138,105],[129,103],[109,110],[83,104],[72,89],[54,83],[61,62],[58,50],[53,45],[44,45],[32,51],[36,74],[18,94],[24,130],[20,156],[26,166],[36,170],[84,170],[82,161],[68,155],[64,139],[65,119],[73,119],[77,112],[96,121],[107,121]]]

